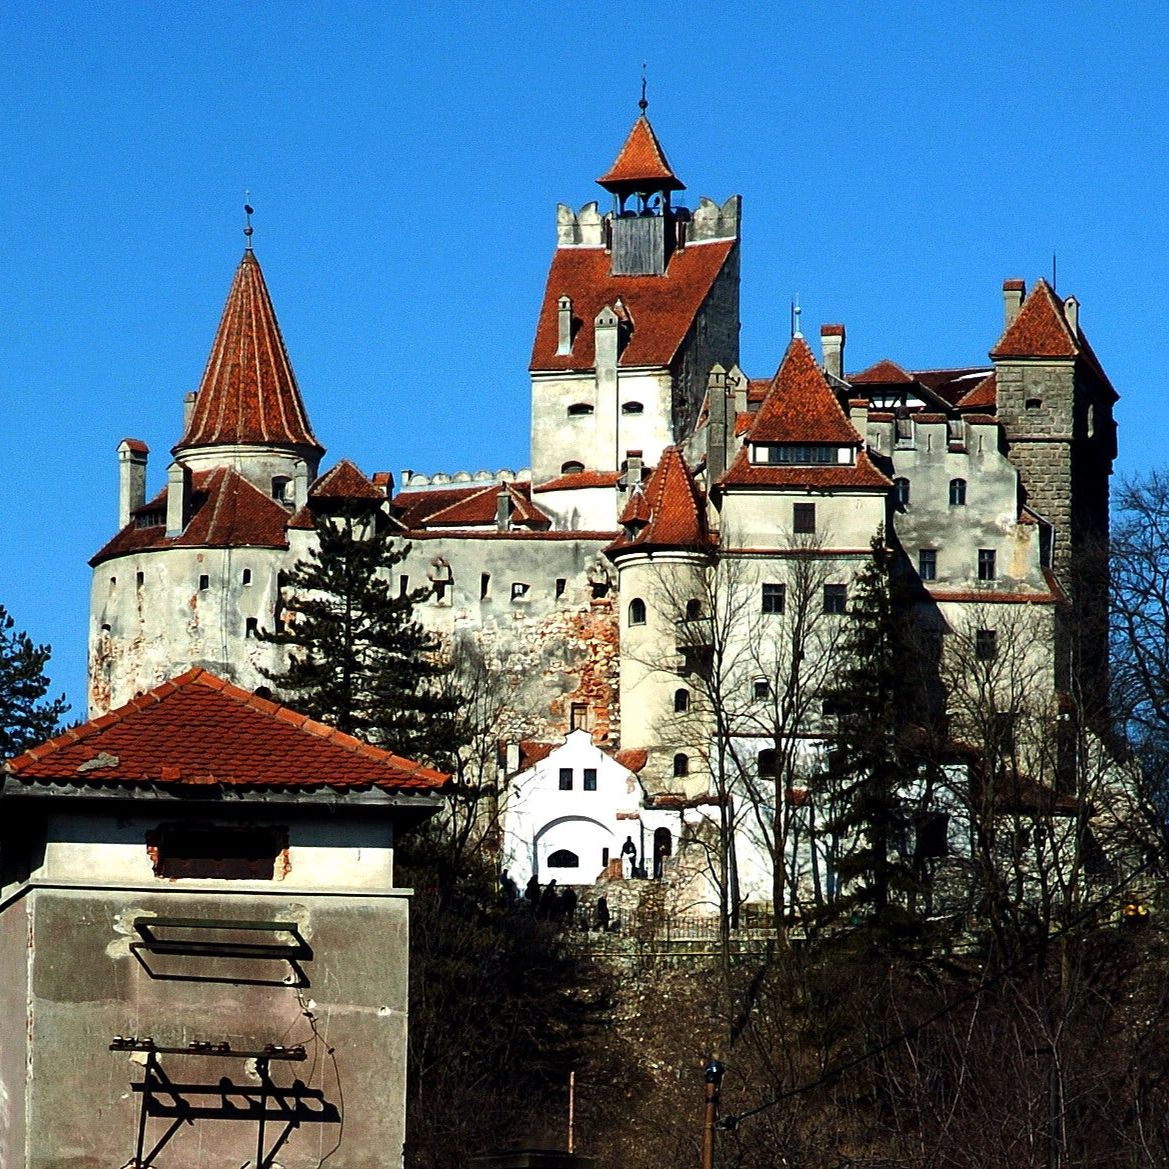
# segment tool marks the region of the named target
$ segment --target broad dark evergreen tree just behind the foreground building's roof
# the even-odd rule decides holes
[[[298,711],[410,759],[449,767],[459,746],[459,696],[445,684],[440,642],[414,620],[430,590],[394,588],[410,546],[382,517],[320,517],[318,545],[282,582],[288,620],[261,641],[289,646],[283,672],[263,671]]]

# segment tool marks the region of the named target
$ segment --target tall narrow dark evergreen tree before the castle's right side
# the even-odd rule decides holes
[[[825,693],[836,714],[825,823],[837,842],[835,869],[844,890],[836,904],[853,915],[867,911],[879,928],[908,925],[905,906],[916,890],[906,839],[915,769],[904,747],[908,639],[893,597],[892,562],[878,532],[853,586],[836,684]]]

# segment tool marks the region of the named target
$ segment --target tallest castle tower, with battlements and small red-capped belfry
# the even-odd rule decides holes
[[[715,362],[739,357],[739,198],[673,206],[684,184],[644,113],[597,180],[613,196],[558,208],[532,351],[535,483],[655,464],[693,429]]]

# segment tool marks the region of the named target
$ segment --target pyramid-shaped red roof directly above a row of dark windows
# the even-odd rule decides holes
[[[747,433],[754,443],[837,443],[859,447],[857,434],[816,364],[794,337]]]

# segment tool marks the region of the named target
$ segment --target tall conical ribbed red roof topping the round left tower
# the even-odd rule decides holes
[[[195,408],[175,452],[238,443],[324,454],[309,424],[260,262],[235,271]]]

